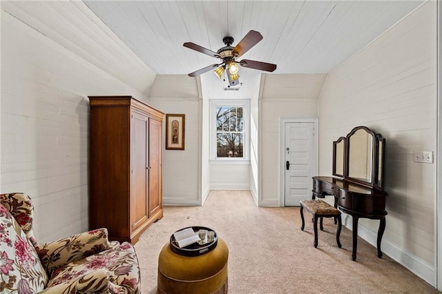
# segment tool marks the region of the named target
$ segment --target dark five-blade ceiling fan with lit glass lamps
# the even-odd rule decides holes
[[[235,47],[232,47],[233,43],[232,37],[224,37],[222,42],[226,45],[225,47],[220,48],[217,52],[213,52],[212,50],[206,49],[202,46],[199,46],[195,43],[187,42],[182,44],[184,47],[193,49],[195,51],[201,52],[205,55],[209,55],[212,57],[216,57],[222,59],[221,63],[215,63],[211,66],[206,66],[205,68],[201,68],[200,70],[196,70],[195,72],[189,73],[189,77],[196,77],[201,75],[204,72],[208,72],[209,70],[213,70],[215,74],[221,78],[224,74],[224,71],[227,70],[227,78],[229,79],[230,86],[236,86],[239,84],[238,71],[239,66],[244,68],[253,68],[256,70],[265,70],[267,72],[273,72],[276,70],[276,64],[266,63],[261,61],[242,59],[241,61],[237,61],[236,58],[244,55],[245,52],[249,51],[253,46],[255,46],[259,41],[262,40],[262,35],[260,32],[256,30],[250,30],[247,35],[242,38],[240,43],[238,43]]]

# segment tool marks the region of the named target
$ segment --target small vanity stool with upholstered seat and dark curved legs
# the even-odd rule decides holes
[[[318,247],[318,218],[320,218],[320,231],[324,231],[323,227],[323,217],[334,217],[338,219],[338,230],[336,231],[336,243],[338,243],[338,247],[341,247],[339,242],[340,230],[342,228],[342,221],[340,219],[340,211],[327,202],[320,199],[313,200],[301,200],[300,201],[300,214],[301,214],[301,230],[304,231],[304,213],[302,210],[305,208],[311,215],[313,215],[314,222],[314,233],[315,233],[315,248]]]

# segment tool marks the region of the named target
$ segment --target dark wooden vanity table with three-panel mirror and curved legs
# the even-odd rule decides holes
[[[365,126],[358,126],[333,142],[334,177],[313,177],[312,199],[333,195],[335,207],[352,215],[353,260],[356,260],[360,218],[379,219],[377,248],[378,257],[382,257],[381,240],[387,215],[384,163],[385,139]]]

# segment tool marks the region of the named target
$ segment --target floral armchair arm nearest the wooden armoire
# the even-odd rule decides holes
[[[94,255],[108,248],[110,248],[110,243],[106,228],[98,228],[35,246],[48,276],[58,266]]]

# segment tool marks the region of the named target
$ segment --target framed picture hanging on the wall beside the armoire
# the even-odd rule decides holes
[[[184,150],[186,115],[166,114],[166,149]]]

